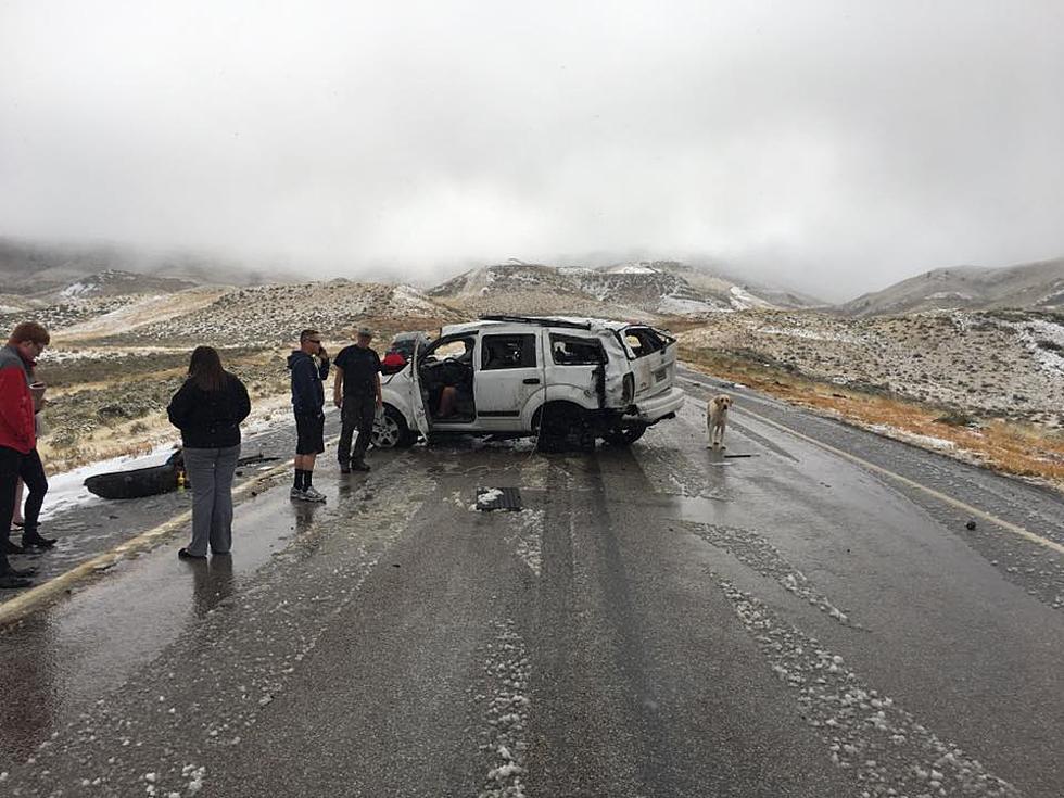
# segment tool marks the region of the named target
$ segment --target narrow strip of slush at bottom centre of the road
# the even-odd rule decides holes
[[[484,662],[491,686],[487,695],[477,696],[487,701],[487,742],[480,748],[491,763],[479,798],[525,798],[530,706],[527,693],[532,663],[512,620],[496,621],[493,625],[495,638],[487,644],[489,656]]]

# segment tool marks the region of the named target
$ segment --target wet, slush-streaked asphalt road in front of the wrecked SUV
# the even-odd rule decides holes
[[[1062,795],[1064,557],[770,421],[1057,542],[1064,503],[744,390],[724,458],[687,378],[630,451],[327,455],[329,503],[280,481],[231,559],[36,612],[0,794]]]

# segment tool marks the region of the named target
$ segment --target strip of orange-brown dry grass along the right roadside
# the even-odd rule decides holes
[[[949,423],[942,420],[948,408],[841,388],[724,353],[682,350],[681,356],[714,377],[749,385],[791,404],[838,416],[861,427],[896,430],[896,436],[901,440],[911,440],[907,439],[908,434],[950,441],[957,447],[954,452],[936,451],[1064,490],[1064,436],[1057,432],[1001,419],[977,419],[972,427]]]

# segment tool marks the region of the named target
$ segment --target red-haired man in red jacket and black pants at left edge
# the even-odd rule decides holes
[[[40,357],[50,337],[48,330],[35,321],[24,321],[15,327],[8,345],[0,349],[0,588],[27,587],[34,569],[20,570],[8,562],[4,550],[11,535],[11,516],[15,505],[15,487],[18,479],[30,492],[43,497],[47,490],[45,469],[37,454],[37,432],[34,423],[34,396],[29,390],[30,371]],[[41,537],[37,532],[37,506],[27,507],[26,533],[23,545],[43,548],[54,541]],[[33,525],[30,527],[30,516]]]

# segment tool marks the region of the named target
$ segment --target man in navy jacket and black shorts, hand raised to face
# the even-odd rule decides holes
[[[325,494],[311,484],[314,460],[325,452],[325,387],[329,377],[329,355],[321,345],[321,333],[303,330],[300,349],[288,356],[292,371],[292,410],[295,413],[295,484],[292,498],[325,502]]]

